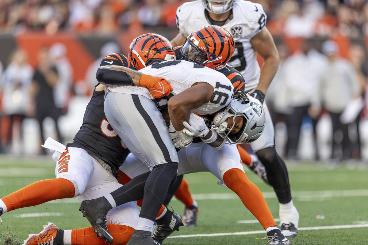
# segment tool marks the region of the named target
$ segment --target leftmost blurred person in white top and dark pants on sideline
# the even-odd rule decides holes
[[[29,88],[31,85],[33,69],[27,62],[27,55],[24,50],[18,49],[11,55],[10,64],[3,75],[3,111],[8,116],[8,127],[6,142],[8,148],[13,142],[13,132],[19,133],[23,139],[21,124],[26,116],[27,105],[29,104]]]

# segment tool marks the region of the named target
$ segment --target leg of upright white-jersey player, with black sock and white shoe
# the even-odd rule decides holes
[[[279,216],[282,232],[286,237],[295,237],[299,223],[299,214],[291,200],[289,174],[283,159],[275,148],[275,131],[267,105],[263,103],[266,116],[266,126],[258,140],[250,143],[266,169],[268,183],[276,192],[279,200]],[[284,224],[284,225],[283,225]]]

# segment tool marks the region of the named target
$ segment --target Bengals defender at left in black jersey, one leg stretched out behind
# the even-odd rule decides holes
[[[164,51],[162,55],[164,58]],[[159,55],[156,56],[158,58]],[[105,57],[101,65],[105,64],[134,69],[124,55],[117,53]],[[109,76],[110,74],[98,71],[98,75]],[[155,85],[158,84],[159,87],[164,86],[166,92],[169,91],[169,85],[165,84],[166,81],[161,78],[152,78],[146,76],[146,80],[141,79],[139,84],[151,90],[155,90]],[[131,81],[125,84],[131,84]],[[139,84],[135,85],[139,86]],[[117,172],[120,172],[118,167],[130,151],[124,148],[124,144],[106,120],[103,110],[105,94],[103,87],[101,84],[95,86],[81,129],[75,135],[73,142],[67,144],[67,148],[50,138],[46,140],[44,147],[56,151],[53,155],[53,159],[57,162],[56,179],[32,183],[1,198],[0,215],[14,209],[35,206],[55,199],[77,197],[79,201],[83,201],[88,197],[99,197],[121,186],[115,177]],[[163,93],[156,94],[156,96],[162,95]],[[160,210],[158,216],[163,212],[164,209]],[[137,224],[138,215],[136,202],[126,203],[110,210],[107,226],[116,241],[119,241],[118,244],[128,242]],[[96,237],[92,227],[60,230],[54,224],[49,223],[44,228],[39,234],[31,234],[24,244],[106,244],[105,241]]]

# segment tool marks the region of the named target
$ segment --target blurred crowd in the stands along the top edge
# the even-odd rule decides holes
[[[44,30],[109,35],[130,25],[175,26],[183,0],[2,0],[0,31]],[[255,0],[273,35],[310,37],[368,33],[367,0]]]

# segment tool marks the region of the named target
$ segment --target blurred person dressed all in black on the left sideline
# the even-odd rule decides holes
[[[49,59],[47,48],[40,48],[38,51],[38,66],[33,75],[31,98],[35,101],[35,118],[39,123],[41,142],[45,142],[46,138],[43,134],[43,120],[49,116],[55,121],[56,133],[58,141],[62,142],[58,118],[62,114],[61,109],[57,108],[54,102],[53,90],[57,86],[59,75],[57,68]],[[46,154],[45,148],[40,148],[42,154]]]

